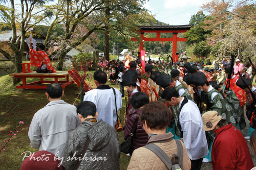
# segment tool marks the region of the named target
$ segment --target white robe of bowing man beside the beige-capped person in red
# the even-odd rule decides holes
[[[179,108],[181,107],[181,103]],[[208,144],[203,131],[203,119],[197,105],[188,100],[180,111],[180,125],[183,131],[183,142],[191,160],[204,158],[208,154]]]

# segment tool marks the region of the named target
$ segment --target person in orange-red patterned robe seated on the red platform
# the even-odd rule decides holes
[[[51,66],[50,59],[45,52],[45,45],[40,44],[38,46],[38,51],[34,51],[30,47],[30,64],[36,66],[36,72],[38,73],[52,73],[56,72],[55,69]]]

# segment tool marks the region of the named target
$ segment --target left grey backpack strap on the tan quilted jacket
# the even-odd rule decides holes
[[[147,145],[144,145],[144,148],[154,152],[162,160],[162,162],[167,166],[168,169],[172,168],[173,166],[172,161],[166,155],[166,153],[160,147],[158,147],[158,145],[154,143],[149,143]]]

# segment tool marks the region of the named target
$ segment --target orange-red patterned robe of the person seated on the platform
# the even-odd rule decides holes
[[[56,72],[55,69],[51,66],[50,59],[48,58],[45,51],[34,51],[32,48],[30,48],[30,63],[32,66],[36,66],[38,68],[41,67],[42,64],[47,65],[48,70],[52,70],[52,72]],[[43,62],[43,60],[45,60]]]

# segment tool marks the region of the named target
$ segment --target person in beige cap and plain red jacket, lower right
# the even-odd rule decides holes
[[[216,133],[212,144],[212,169],[251,169],[253,162],[242,133],[216,111],[203,114],[203,130]]]

